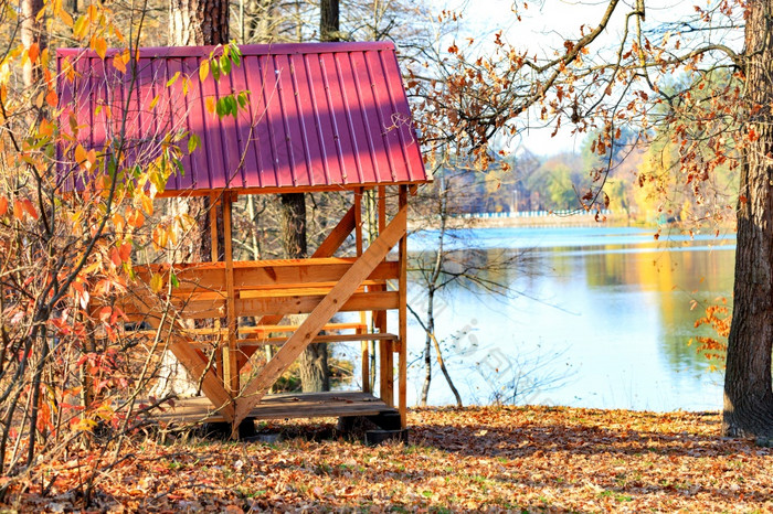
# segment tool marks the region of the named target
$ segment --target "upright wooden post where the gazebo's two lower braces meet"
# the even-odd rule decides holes
[[[236,341],[236,296],[233,285],[233,244],[231,229],[231,193],[223,193],[223,246],[225,253],[225,314],[227,322],[226,343],[223,346],[223,383],[232,395],[239,394],[239,347]]]

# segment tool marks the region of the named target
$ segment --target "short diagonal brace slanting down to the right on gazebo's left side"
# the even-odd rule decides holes
[[[169,309],[160,303],[156,297],[144,296],[142,302],[137,297],[133,296],[133,301],[146,312],[163,313]],[[181,335],[178,332],[184,332],[184,328],[174,322],[172,312],[166,312],[161,319],[156,315],[148,315],[146,321],[162,336],[169,338],[169,351],[177,357],[178,361],[186,367],[191,378],[194,382],[201,382],[201,392],[214,405],[218,411],[231,421],[234,417],[234,403],[231,395],[223,387],[222,381],[218,377],[214,371],[207,367],[207,361],[195,351],[190,344],[191,340]],[[202,378],[203,375],[203,378]]]

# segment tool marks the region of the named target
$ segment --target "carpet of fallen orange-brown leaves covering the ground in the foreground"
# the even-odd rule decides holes
[[[47,497],[28,484],[21,511],[682,511],[773,510],[772,450],[719,436],[718,413],[552,407],[415,409],[411,442],[367,447],[330,425],[271,425],[275,445],[135,440],[77,488],[93,456],[50,463]],[[80,503],[81,502],[81,503]]]

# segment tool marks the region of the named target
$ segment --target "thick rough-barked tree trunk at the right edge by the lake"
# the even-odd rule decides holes
[[[773,32],[770,0],[748,4],[745,29],[749,140],[741,169],[733,318],[728,341],[722,430],[773,436]]]

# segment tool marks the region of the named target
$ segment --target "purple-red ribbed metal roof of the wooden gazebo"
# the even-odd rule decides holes
[[[129,162],[158,156],[169,132],[191,132],[201,146],[180,147],[184,174],[167,192],[292,190],[416,183],[427,180],[392,43],[300,43],[241,46],[241,66],[199,81],[212,46],[140,49],[137,73],[94,52],[60,49],[62,130],[71,114],[86,149],[125,133]],[[167,84],[180,72],[180,78]],[[72,76],[72,74],[71,74]],[[190,82],[183,94],[183,76]],[[239,116],[207,109],[208,98],[248,90]],[[209,100],[212,101],[212,100]],[[125,124],[121,124],[126,120]]]

